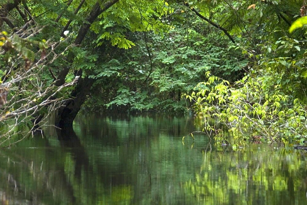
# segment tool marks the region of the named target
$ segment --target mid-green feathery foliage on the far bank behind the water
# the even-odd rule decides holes
[[[204,36],[200,33],[204,30],[196,30],[203,22],[198,21],[197,24],[195,29],[188,26],[181,28],[179,25],[176,28],[174,25],[164,36],[148,32],[131,33],[130,38],[136,39],[136,46],[127,51],[105,48],[112,49],[114,59],[108,63],[102,62],[96,69],[98,74],[91,75],[98,79],[93,90],[101,92],[92,92],[88,102],[92,105],[88,106],[94,110],[106,104],[108,109],[118,111],[182,112],[186,111],[187,105],[181,99],[182,93],[191,91],[204,78],[206,71],[236,80],[247,64],[241,49],[228,46],[219,33]],[[137,40],[140,37],[142,39]],[[109,84],[107,90],[101,90],[99,87],[105,84],[105,79],[100,78],[105,77],[116,80]],[[110,102],[110,99],[113,100]]]

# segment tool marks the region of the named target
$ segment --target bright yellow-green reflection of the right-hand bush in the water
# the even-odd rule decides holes
[[[305,161],[266,146],[204,152],[196,180],[183,186],[204,204],[292,204],[305,201]]]

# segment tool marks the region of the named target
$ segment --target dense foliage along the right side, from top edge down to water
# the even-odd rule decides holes
[[[242,79],[231,83],[208,72],[208,80],[186,96],[203,115],[204,132],[214,133],[234,149],[247,140],[283,145],[305,142],[305,30],[288,33],[290,22],[305,15],[301,6],[303,2],[265,1],[237,7],[237,12],[249,14],[248,19],[241,16],[241,23],[247,39],[257,43],[242,44],[243,54],[250,58]],[[247,27],[244,20],[256,27]],[[224,126],[212,125],[212,120]]]

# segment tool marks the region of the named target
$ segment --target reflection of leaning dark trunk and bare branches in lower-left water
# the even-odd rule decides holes
[[[87,153],[73,129],[57,130],[57,133],[60,150],[52,148],[45,138],[33,138],[34,142],[29,142],[29,145],[37,145],[33,149],[2,150],[0,196],[3,203],[80,201],[76,184],[82,183],[82,171],[87,170],[88,178],[92,174]]]

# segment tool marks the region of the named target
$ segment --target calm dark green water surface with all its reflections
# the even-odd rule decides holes
[[[307,203],[305,151],[232,151],[196,133],[183,142],[197,124],[193,116],[79,115],[66,140],[50,127],[0,150],[1,203]]]

